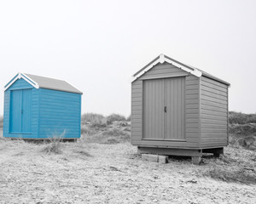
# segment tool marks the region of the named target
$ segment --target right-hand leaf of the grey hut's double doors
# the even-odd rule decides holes
[[[166,79],[165,139],[185,139],[185,77]]]

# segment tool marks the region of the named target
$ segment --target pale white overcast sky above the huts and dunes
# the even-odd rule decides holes
[[[0,87],[19,71],[70,82],[82,112],[131,112],[131,75],[159,54],[231,83],[256,113],[256,1],[0,1]],[[0,93],[3,115],[3,89]]]

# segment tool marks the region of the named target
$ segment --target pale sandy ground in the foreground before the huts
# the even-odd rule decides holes
[[[131,144],[45,144],[0,139],[0,203],[255,203],[256,185],[203,176],[190,160],[142,161]]]

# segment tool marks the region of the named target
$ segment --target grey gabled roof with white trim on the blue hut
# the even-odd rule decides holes
[[[30,83],[34,88],[48,88],[58,91],[65,91],[77,94],[83,94],[79,89],[74,88],[68,82],[53,79],[48,77],[41,77],[31,74],[18,73],[11,81],[9,81],[5,86],[4,90],[9,88],[16,80],[23,78],[26,82]]]

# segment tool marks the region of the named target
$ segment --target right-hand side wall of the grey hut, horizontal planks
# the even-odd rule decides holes
[[[201,77],[201,147],[228,143],[228,86]]]

